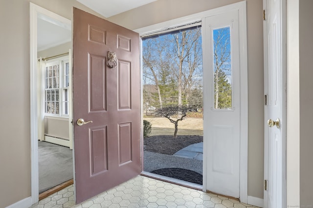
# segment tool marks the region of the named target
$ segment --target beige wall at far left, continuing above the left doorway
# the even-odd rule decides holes
[[[0,207],[31,195],[29,1],[0,0]],[[71,19],[76,0],[31,0]],[[99,16],[99,15],[98,15]]]

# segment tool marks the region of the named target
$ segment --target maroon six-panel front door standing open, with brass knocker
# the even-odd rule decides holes
[[[109,51],[116,53],[116,64]],[[73,111],[76,203],[81,203],[140,173],[140,67],[137,33],[77,8]],[[78,125],[79,119],[85,124]]]

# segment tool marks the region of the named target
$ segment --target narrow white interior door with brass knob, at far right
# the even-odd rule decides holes
[[[264,0],[265,183],[264,208],[283,207],[282,0]]]

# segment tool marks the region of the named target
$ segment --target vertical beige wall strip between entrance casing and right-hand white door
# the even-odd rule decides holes
[[[262,11],[262,0],[247,0],[248,195],[263,199],[264,65]]]

